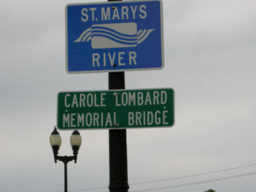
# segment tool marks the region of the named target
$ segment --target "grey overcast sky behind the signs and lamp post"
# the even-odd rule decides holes
[[[67,74],[65,5],[102,1],[8,1],[0,6],[0,191],[63,191],[63,163],[54,163],[49,135],[58,92],[108,90],[108,73]],[[130,191],[255,191],[256,1],[163,0],[163,70],[125,72],[127,89],[175,90],[175,125],[127,130]],[[60,155],[71,155],[60,131]],[[108,187],[108,130],[80,131],[68,188]],[[90,191],[108,191],[107,189]],[[77,190],[78,191],[78,190]],[[81,190],[84,191],[84,190]]]

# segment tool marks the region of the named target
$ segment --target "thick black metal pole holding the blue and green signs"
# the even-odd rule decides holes
[[[118,0],[108,0],[118,1]],[[124,72],[109,72],[109,90],[125,89]],[[109,130],[109,192],[127,192],[126,129]]]

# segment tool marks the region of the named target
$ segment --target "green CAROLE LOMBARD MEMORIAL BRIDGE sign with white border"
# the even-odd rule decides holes
[[[58,129],[172,127],[172,88],[60,92]]]

